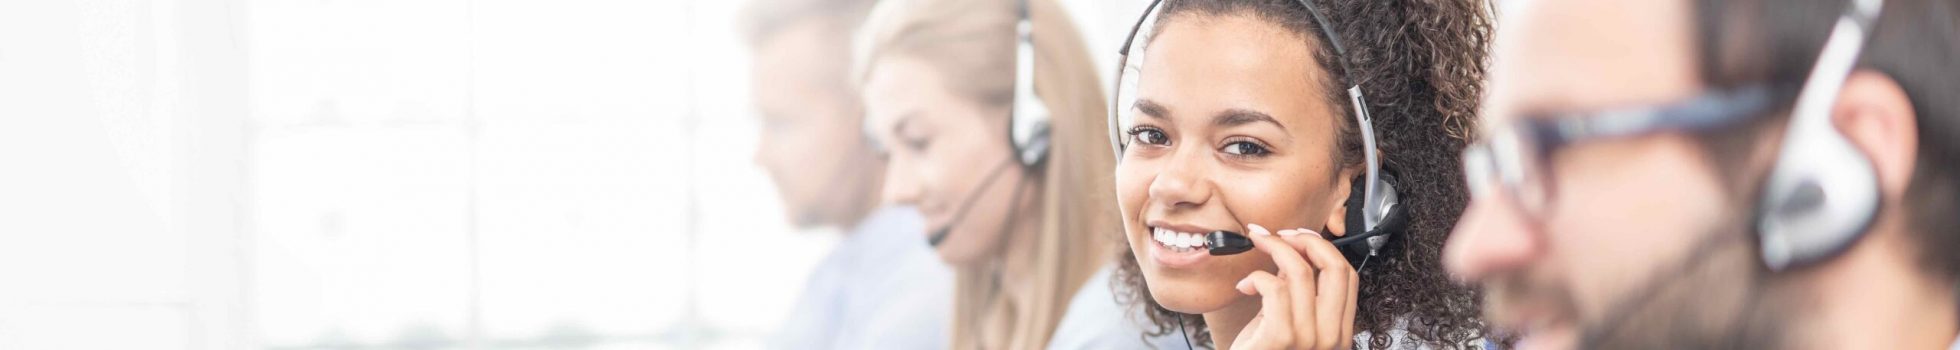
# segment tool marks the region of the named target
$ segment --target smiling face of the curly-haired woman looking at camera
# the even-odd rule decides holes
[[[1180,313],[1249,301],[1233,285],[1276,270],[1260,250],[1211,256],[1156,239],[1249,223],[1323,231],[1341,213],[1347,170],[1335,108],[1298,35],[1256,18],[1176,16],[1147,47],[1129,149],[1117,164],[1125,239],[1151,295]],[[1325,231],[1323,231],[1325,233]]]

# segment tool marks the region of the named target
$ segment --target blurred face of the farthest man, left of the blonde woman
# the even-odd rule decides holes
[[[853,227],[878,205],[884,162],[858,131],[862,108],[845,88],[837,33],[786,25],[757,45],[751,86],[762,111],[755,164],[768,172],[796,227]]]

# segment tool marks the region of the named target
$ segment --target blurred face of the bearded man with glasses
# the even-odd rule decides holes
[[[1484,125],[1701,92],[1691,18],[1686,0],[1543,0],[1505,14]],[[1544,170],[1541,213],[1501,192],[1478,197],[1445,248],[1445,266],[1484,287],[1490,321],[1521,348],[1680,348],[1760,317],[1739,311],[1760,278],[1744,203],[1691,135],[1578,143]]]

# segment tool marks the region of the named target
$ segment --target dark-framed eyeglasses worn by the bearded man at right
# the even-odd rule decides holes
[[[1543,217],[1556,188],[1550,156],[1558,149],[1656,133],[1703,133],[1748,121],[1770,108],[1768,86],[1711,90],[1688,100],[1578,113],[1513,117],[1464,149],[1472,201],[1509,197],[1527,217]]]

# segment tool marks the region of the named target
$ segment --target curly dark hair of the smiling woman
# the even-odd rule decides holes
[[[1182,16],[1250,16],[1299,33],[1329,74],[1341,74],[1335,59],[1347,59],[1347,78],[1368,96],[1382,162],[1397,170],[1396,186],[1407,194],[1399,205],[1411,213],[1409,231],[1360,266],[1354,328],[1374,336],[1356,346],[1411,346],[1390,336],[1390,330],[1401,328],[1405,338],[1429,346],[1476,348],[1474,340],[1488,336],[1480,295],[1450,282],[1441,256],[1468,201],[1458,154],[1470,141],[1482,98],[1490,12],[1480,0],[1313,2],[1341,31],[1347,57],[1335,57],[1331,47],[1319,43],[1321,29],[1298,0],[1164,0],[1151,31],[1162,31]],[[1341,80],[1325,78],[1321,86],[1329,106],[1339,106],[1339,115],[1352,115]],[[1341,160],[1360,164],[1352,119],[1341,121]],[[1203,317],[1158,305],[1137,256],[1127,248],[1121,254],[1111,284],[1123,303],[1154,325],[1147,336],[1184,328],[1192,342],[1209,346]]]

